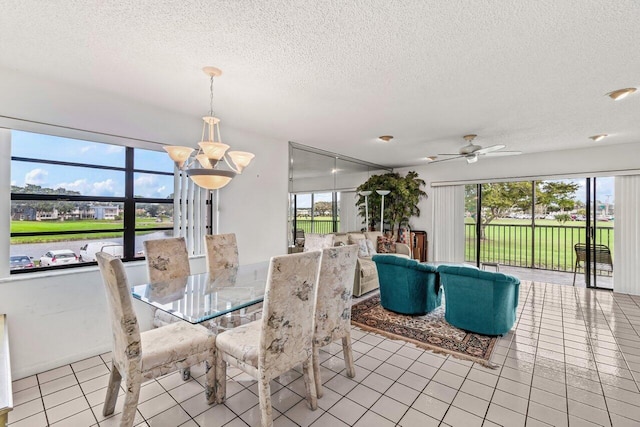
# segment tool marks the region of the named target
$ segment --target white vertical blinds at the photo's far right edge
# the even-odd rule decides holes
[[[640,175],[615,179],[613,289],[640,295]]]

